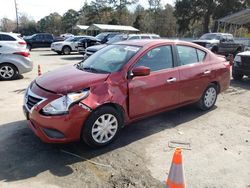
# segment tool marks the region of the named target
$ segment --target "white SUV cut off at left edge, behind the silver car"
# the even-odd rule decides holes
[[[20,50],[25,50],[27,48],[26,42],[18,33],[0,32],[0,45],[5,44],[17,47]]]

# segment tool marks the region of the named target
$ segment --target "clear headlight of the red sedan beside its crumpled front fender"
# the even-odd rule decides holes
[[[69,93],[64,95],[49,104],[47,104],[42,112],[46,115],[62,115],[66,114],[69,111],[69,108],[72,104],[79,102],[82,99],[85,99],[89,95],[89,89],[82,90],[80,92]]]

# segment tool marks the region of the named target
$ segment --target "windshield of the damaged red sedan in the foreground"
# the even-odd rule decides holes
[[[77,67],[94,73],[119,71],[138,51],[138,46],[109,45],[90,56]]]

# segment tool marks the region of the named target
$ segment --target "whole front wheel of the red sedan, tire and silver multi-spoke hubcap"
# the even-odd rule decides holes
[[[83,125],[81,138],[91,147],[111,143],[122,127],[122,117],[110,106],[103,106],[92,112]]]

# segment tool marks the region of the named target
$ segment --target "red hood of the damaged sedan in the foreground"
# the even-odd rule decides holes
[[[104,82],[109,74],[85,72],[75,65],[66,66],[39,76],[36,83],[41,88],[57,94],[67,94]]]

